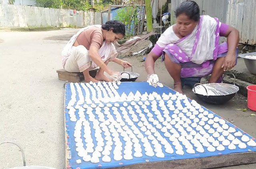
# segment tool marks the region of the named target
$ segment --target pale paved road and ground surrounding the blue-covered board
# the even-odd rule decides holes
[[[27,165],[65,168],[64,159],[64,81],[57,78],[61,69],[60,51],[77,29],[43,32],[0,32],[0,141],[15,141],[22,145]],[[143,64],[137,58],[127,58],[138,81],[145,81]],[[110,67],[122,71],[114,63]],[[173,82],[162,63],[156,71],[165,85]],[[196,99],[189,88],[184,92]],[[200,102],[224,118],[235,120],[248,134],[256,137],[255,116],[246,108],[246,98],[236,96],[225,105],[213,106]],[[14,145],[1,145],[0,169],[22,166],[20,151]],[[256,165],[241,165],[225,169],[255,169]]]

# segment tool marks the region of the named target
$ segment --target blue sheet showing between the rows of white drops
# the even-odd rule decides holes
[[[80,85],[80,83],[79,83]],[[81,85],[80,85],[81,87]],[[85,96],[85,92],[83,90],[83,88],[81,87],[82,89],[82,92],[83,92],[83,95]],[[172,93],[172,94],[175,94],[176,92],[170,88],[168,88],[167,86],[164,86],[163,88],[160,88],[160,87],[152,87],[150,85],[148,85],[148,83],[146,82],[136,82],[136,83],[130,83],[130,82],[127,82],[127,83],[121,83],[121,85],[119,85],[119,89],[117,89],[117,92],[119,93],[119,95],[121,96],[121,94],[124,92],[126,93],[126,95],[128,95],[130,92],[133,92],[134,94],[136,93],[136,91],[139,91],[141,94],[147,92],[148,94],[152,93],[152,92],[157,92],[158,94],[160,94],[162,96],[163,93],[166,93],[168,94],[169,92]],[[90,94],[90,96],[92,96],[92,94]],[[78,99],[78,92],[76,92],[76,97],[77,97],[77,100]],[[86,97],[86,96],[85,96]],[[69,114],[67,113],[68,112],[68,109],[66,108],[67,105],[68,105],[68,102],[70,101],[70,98],[71,98],[71,90],[70,90],[70,84],[66,84],[66,89],[65,89],[65,117],[66,117],[66,133],[68,135],[68,147],[70,148],[70,153],[69,153],[69,156],[71,157],[71,159],[69,160],[69,164],[71,166],[71,168],[73,169],[76,169],[77,167],[80,167],[80,169],[88,169],[88,168],[111,168],[111,167],[121,167],[121,166],[126,166],[126,165],[132,165],[132,164],[136,164],[136,163],[146,163],[146,162],[153,162],[153,161],[164,161],[164,160],[174,160],[174,159],[190,159],[190,158],[202,158],[202,157],[210,157],[210,156],[215,156],[215,155],[225,155],[225,154],[229,154],[229,153],[241,153],[241,152],[248,152],[248,151],[256,151],[256,147],[250,147],[247,145],[246,149],[240,149],[238,147],[238,145],[236,145],[236,149],[234,150],[230,150],[228,149],[228,146],[224,146],[225,147],[225,150],[224,151],[214,151],[214,152],[210,152],[210,151],[207,151],[207,147],[204,147],[204,153],[198,153],[197,151],[195,151],[196,153],[195,154],[189,154],[189,153],[186,153],[186,148],[184,147],[184,145],[182,145],[182,143],[180,143],[182,146],[183,146],[183,151],[184,151],[184,155],[177,155],[175,153],[175,149],[174,149],[174,145],[172,145],[172,142],[168,140],[168,138],[166,138],[164,136],[164,133],[161,132],[160,130],[158,130],[158,132],[160,132],[160,134],[166,138],[167,141],[169,141],[169,143],[172,145],[172,148],[174,149],[174,153],[172,154],[168,154],[168,153],[165,153],[164,151],[164,146],[162,146],[162,152],[164,153],[165,157],[164,158],[158,158],[156,156],[153,156],[153,157],[148,157],[145,155],[145,151],[144,151],[144,147],[143,147],[143,143],[141,142],[140,140],[140,144],[141,144],[141,147],[142,147],[142,154],[143,154],[143,157],[140,157],[140,158],[136,158],[136,157],[133,157],[132,160],[125,160],[125,159],[122,159],[120,161],[115,161],[114,160],[114,155],[113,155],[113,150],[114,150],[114,144],[112,145],[112,151],[110,153],[110,157],[111,157],[111,162],[109,163],[106,163],[106,162],[103,162],[101,159],[103,157],[100,157],[100,162],[99,163],[91,163],[91,162],[85,162],[82,160],[82,157],[79,157],[77,155],[77,151],[76,151],[76,142],[74,141],[74,126],[76,124],[76,122],[72,122],[70,121],[70,117],[69,117]],[[174,100],[175,101],[175,100]],[[191,100],[189,100],[191,102]],[[150,101],[149,101],[150,102]],[[165,100],[165,104],[167,105],[166,103],[167,101]],[[130,105],[130,102],[127,102],[128,103],[128,106]],[[113,105],[114,103],[112,103]],[[122,106],[122,103],[119,102],[120,106]],[[96,104],[97,105],[97,104]],[[76,104],[74,105],[74,107],[76,106]],[[82,105],[81,105],[82,106]],[[184,106],[184,104],[182,103],[182,106]],[[133,107],[134,108],[134,107]],[[203,107],[204,108],[204,107]],[[148,106],[148,109],[151,110],[151,107]],[[119,109],[118,109],[119,110]],[[134,112],[135,112],[136,109],[134,109]],[[158,108],[158,110],[160,110],[160,108]],[[211,112],[210,110],[204,108],[204,110],[207,110],[209,113],[212,113],[214,114],[213,112]],[[110,112],[112,113],[113,110],[111,110],[110,108]],[[143,112],[143,111],[142,111]],[[160,112],[162,113],[162,110],[160,110]],[[93,111],[93,113],[95,113],[95,110]],[[121,111],[120,111],[120,114],[121,114]],[[152,113],[153,114],[153,113]],[[170,116],[172,116],[173,114],[173,111],[170,111]],[[128,114],[129,116],[131,116],[130,114]],[[86,116],[86,120],[88,120],[88,116],[87,114],[85,113],[85,116]],[[113,117],[115,117],[113,115]],[[217,114],[214,114],[214,117],[218,117],[218,118],[221,118],[220,116],[218,116]],[[78,117],[78,110],[76,110],[76,118],[79,119]],[[96,115],[96,118],[97,115]],[[131,117],[130,117],[131,118]],[[140,117],[138,116],[139,120],[140,120]],[[146,118],[148,118],[146,116]],[[157,119],[156,116],[154,115],[153,118]],[[107,120],[106,116],[105,116],[105,119]],[[123,119],[123,121],[125,122],[125,120]],[[91,123],[91,122],[90,122]],[[126,122],[125,122],[126,123]],[[150,124],[152,124],[152,122],[149,122]],[[134,124],[137,126],[138,122],[134,122]],[[232,126],[234,128],[236,128],[233,124],[230,124],[228,121],[226,121],[226,124],[228,124],[228,126]],[[90,124],[91,126],[92,124]],[[152,124],[153,125],[153,124]],[[128,126],[128,125],[127,125]],[[154,125],[153,125],[154,126]],[[210,125],[211,126],[211,125]],[[129,126],[130,127],[130,126]],[[137,126],[138,127],[138,126]],[[173,126],[174,127],[174,126]],[[211,126],[212,127],[212,126]],[[140,127],[138,127],[140,128]],[[195,128],[193,128],[195,130]],[[92,129],[91,127],[91,130],[92,130],[92,133],[91,133],[91,136],[92,138],[94,138],[94,129]],[[206,130],[207,131],[207,130]],[[236,128],[236,131],[240,131],[242,133],[244,133],[242,130],[240,130],[239,128]],[[82,134],[86,131],[84,131],[84,129],[82,128]],[[142,132],[144,134],[144,132]],[[179,132],[180,133],[180,132]],[[248,136],[249,138],[252,138],[251,136],[249,136],[248,134],[244,133],[244,135]],[[144,136],[146,136],[144,134]],[[212,136],[212,134],[210,134],[210,136]],[[102,138],[104,138],[104,134],[102,132]],[[122,154],[123,151],[124,151],[124,145],[125,145],[125,141],[122,139],[122,137],[120,136],[119,137],[120,140],[123,142],[123,150],[122,150]],[[225,137],[227,138],[227,137]],[[240,141],[241,141],[241,137],[236,137],[238,138]],[[84,141],[84,138],[82,138],[83,141]],[[150,140],[149,140],[150,141]],[[104,142],[106,142],[104,140]],[[150,141],[151,143],[151,141]],[[246,143],[246,142],[245,142]],[[94,145],[96,145],[96,140],[94,140]],[[153,146],[152,146],[153,147]],[[84,146],[84,148],[86,149],[86,147]],[[95,148],[95,147],[94,147]],[[194,147],[194,150],[196,149],[196,147]],[[134,152],[134,151],[133,151]],[[88,154],[92,154],[92,153],[88,153]],[[80,164],[77,164],[76,163],[76,160],[77,159],[81,159],[82,163]]]

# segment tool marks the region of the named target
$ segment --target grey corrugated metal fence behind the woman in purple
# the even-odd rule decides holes
[[[171,24],[175,23],[174,11],[185,0],[172,0]],[[256,45],[256,0],[195,0],[201,15],[219,18],[240,32],[240,43]]]

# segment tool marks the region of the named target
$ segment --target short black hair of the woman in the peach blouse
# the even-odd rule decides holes
[[[114,33],[121,33],[122,35],[125,35],[124,24],[118,20],[107,21],[106,24],[102,25],[102,29],[107,31],[112,29]]]

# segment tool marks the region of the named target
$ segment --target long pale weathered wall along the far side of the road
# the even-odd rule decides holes
[[[18,27],[85,27],[101,24],[100,12],[70,15],[70,10],[0,4],[0,28]]]

